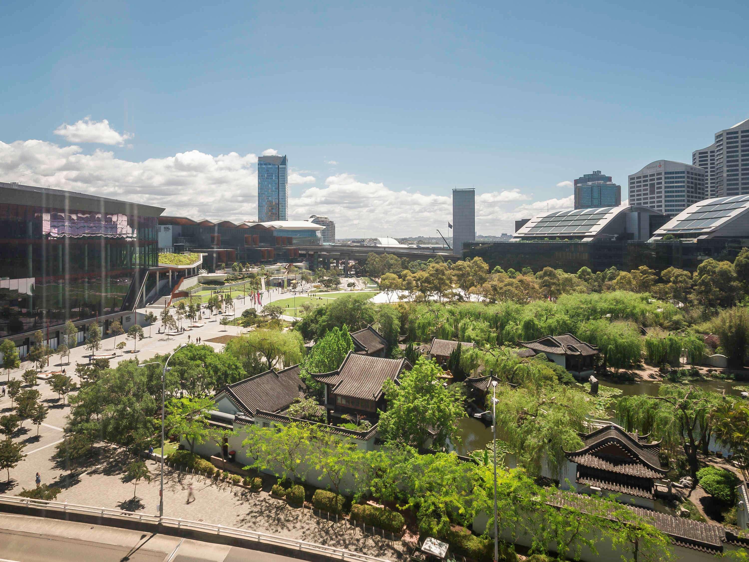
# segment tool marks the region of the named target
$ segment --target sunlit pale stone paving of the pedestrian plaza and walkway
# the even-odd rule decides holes
[[[270,294],[270,301],[264,299],[264,304],[287,298],[288,293],[276,289]],[[249,299],[246,305],[242,299],[235,300],[236,315],[251,307]],[[261,309],[261,306],[254,306]],[[246,329],[237,326],[221,326],[216,317],[204,318],[204,326],[185,331],[178,336],[165,336],[157,333],[160,322],[153,327],[145,327],[146,338],[138,342],[138,353],[117,351],[117,357],[110,360],[110,365],[115,366],[121,360],[138,357],[139,360],[148,359],[157,353],[172,351],[181,343],[187,343],[187,336],[192,342],[196,337],[201,337],[202,342],[212,345],[217,351],[223,345],[208,343],[207,339],[228,334],[237,335]],[[148,336],[151,330],[151,336]],[[118,336],[117,341],[125,341],[124,336]],[[113,351],[115,339],[107,338],[102,342],[100,351]],[[128,349],[132,349],[133,342],[128,340]],[[49,370],[66,369],[76,382],[76,363],[88,363],[88,351],[83,346],[73,348],[70,353],[70,362],[60,364],[58,356],[50,357]],[[19,369],[10,372],[11,378],[20,378],[25,369],[30,369],[31,363],[22,363]],[[46,369],[45,369],[46,370]],[[0,387],[6,384],[7,375],[0,376]],[[25,386],[24,386],[25,387]],[[33,426],[30,421],[24,423],[24,427],[16,432],[13,441],[23,441],[26,444],[25,459],[16,468],[10,470],[10,481],[6,482],[7,472],[0,474],[0,493],[16,495],[22,489],[34,487],[34,477],[37,471],[40,473],[42,483],[49,486],[59,486],[63,489],[58,495],[57,501],[67,501],[70,504],[83,504],[95,507],[108,507],[111,509],[123,509],[129,511],[142,511],[143,513],[158,513],[159,510],[159,465],[148,461],[154,480],[151,483],[141,481],[136,489],[136,498],[133,498],[133,483],[124,481],[125,467],[133,460],[124,450],[118,447],[100,445],[97,447],[98,454],[84,468],[76,470],[71,474],[65,467],[58,465],[52,456],[55,453],[55,444],[62,440],[65,418],[70,411],[70,405],[64,403],[57,394],[53,393],[46,381],[40,381],[34,388],[41,393],[40,400],[49,407],[49,414],[44,423],[38,427]],[[12,411],[10,397],[0,398],[0,414],[8,414]],[[195,491],[195,501],[186,503],[187,486],[192,482]],[[345,522],[329,522],[318,516],[312,515],[309,507],[302,510],[291,507],[285,501],[271,498],[267,493],[270,481],[267,482],[266,491],[252,493],[244,489],[233,489],[231,486],[220,483],[216,484],[202,477],[183,477],[172,469],[167,468],[165,472],[165,516],[182,519],[200,520],[204,522],[225,525],[228,527],[248,528],[269,534],[280,534],[285,537],[293,537],[364,552],[368,555],[401,560],[407,549],[405,543],[398,540],[394,542],[383,537],[372,537],[371,531],[363,534],[361,528],[354,528]]]

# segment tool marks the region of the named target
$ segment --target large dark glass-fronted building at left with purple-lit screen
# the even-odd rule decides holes
[[[158,265],[162,211],[0,183],[0,339],[43,330],[53,340],[68,320],[132,310]]]

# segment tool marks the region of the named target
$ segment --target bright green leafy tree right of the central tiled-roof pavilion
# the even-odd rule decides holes
[[[434,360],[419,357],[410,371],[400,375],[400,385],[385,381],[387,411],[380,412],[379,432],[385,442],[441,449],[458,439],[458,420],[465,417],[459,385],[443,387],[443,370]]]

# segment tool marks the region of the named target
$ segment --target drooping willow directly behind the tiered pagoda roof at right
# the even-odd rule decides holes
[[[627,431],[637,429],[663,441],[671,453],[682,451],[689,472],[697,482],[700,468],[697,453],[710,442],[712,423],[709,414],[723,397],[697,387],[664,384],[658,396],[624,396],[616,402],[616,417]]]

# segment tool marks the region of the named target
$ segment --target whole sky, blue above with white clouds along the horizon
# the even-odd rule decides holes
[[[747,2],[402,4],[4,2],[0,180],[249,219],[275,149],[339,235],[434,235],[452,187],[498,234],[749,117]]]

